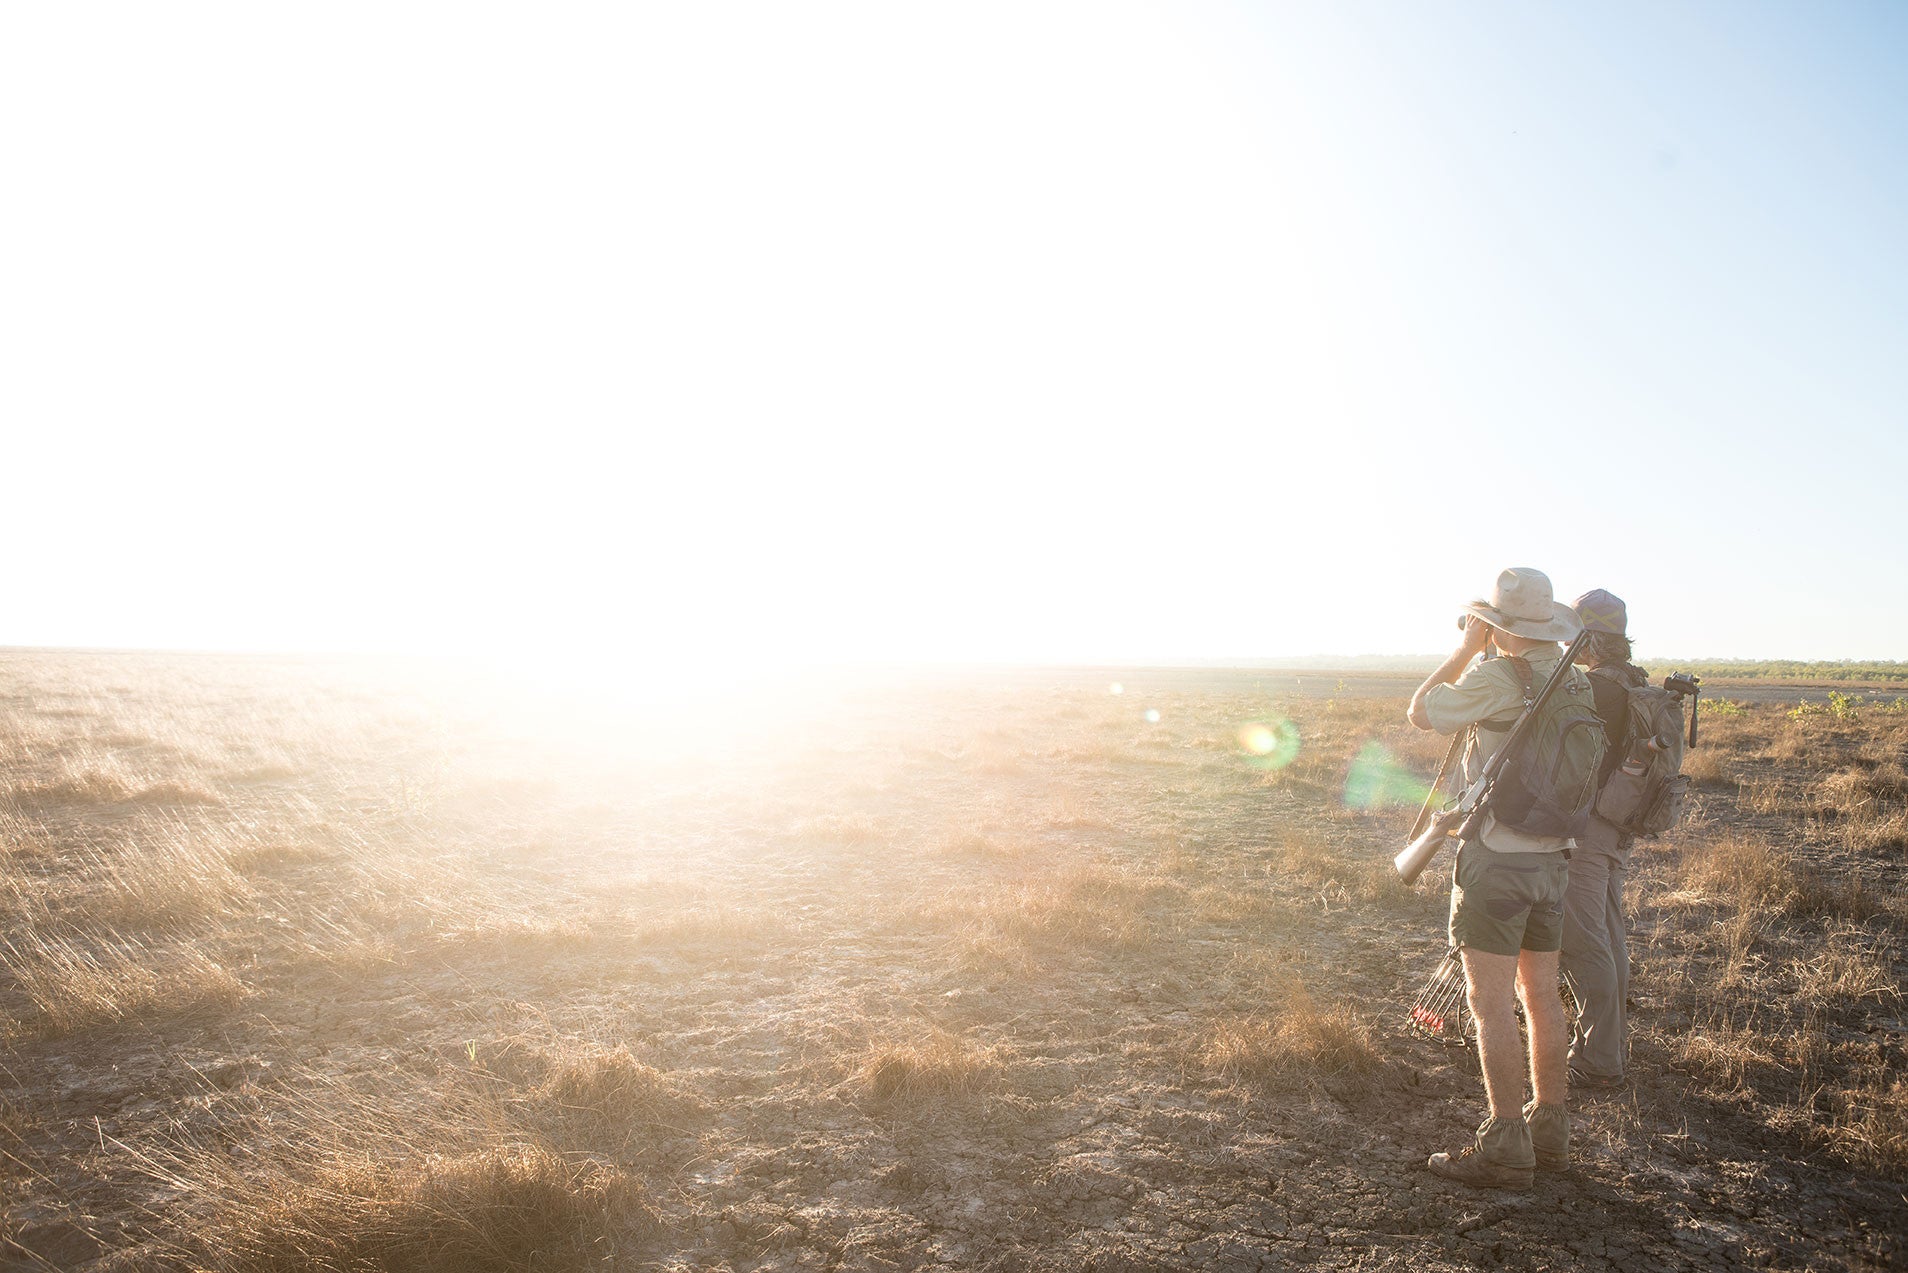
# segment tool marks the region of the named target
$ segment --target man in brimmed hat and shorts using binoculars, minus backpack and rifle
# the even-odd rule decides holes
[[[1463,752],[1463,777],[1471,784],[1532,702],[1532,685],[1547,685],[1559,670],[1565,651],[1557,643],[1572,641],[1582,622],[1553,599],[1549,576],[1528,567],[1504,571],[1488,601],[1463,609],[1458,649],[1412,695],[1408,718],[1418,729],[1444,735],[1471,731]],[[1549,693],[1580,699],[1593,712],[1589,679],[1574,666]],[[1427,1166],[1439,1176],[1523,1187],[1534,1166],[1555,1170],[1568,1162],[1568,1034],[1557,998],[1557,952],[1572,845],[1565,836],[1504,824],[1486,807],[1458,849],[1450,945],[1463,958],[1490,1113],[1471,1145],[1431,1155]],[[1528,1055],[1513,994],[1524,1006]],[[1532,1086],[1528,1105],[1524,1073]]]

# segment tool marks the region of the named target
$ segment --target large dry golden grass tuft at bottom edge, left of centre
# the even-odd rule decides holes
[[[496,1084],[464,1078],[284,1073],[235,1096],[225,1126],[181,1126],[139,1160],[193,1200],[176,1229],[187,1267],[567,1269],[590,1262],[586,1246],[653,1225],[637,1178],[565,1153],[546,1136],[565,1126],[540,1128],[534,1101],[500,1101]]]

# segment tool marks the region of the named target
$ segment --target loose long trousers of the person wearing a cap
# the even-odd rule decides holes
[[[1597,815],[1570,853],[1570,887],[1563,907],[1563,971],[1576,994],[1570,1067],[1595,1078],[1620,1078],[1629,998],[1629,943],[1624,935],[1624,872],[1631,838]]]

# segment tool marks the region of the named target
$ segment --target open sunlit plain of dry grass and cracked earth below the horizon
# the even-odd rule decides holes
[[[1908,1262],[1902,700],[1706,706],[1633,1082],[1483,1195],[1404,689],[0,655],[0,1263]]]

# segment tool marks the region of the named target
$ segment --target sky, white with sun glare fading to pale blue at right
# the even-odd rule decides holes
[[[1902,6],[8,6],[0,172],[0,643],[1908,657]]]

